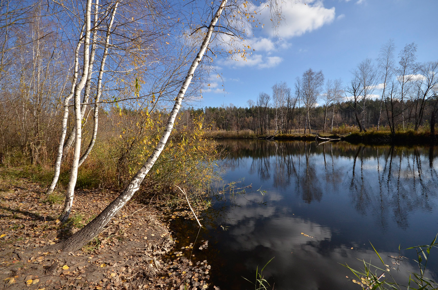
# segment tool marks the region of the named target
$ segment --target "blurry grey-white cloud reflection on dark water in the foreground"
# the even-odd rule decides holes
[[[343,289],[357,289],[345,277],[351,277],[350,270],[341,264],[360,270],[363,268],[363,262],[357,260],[360,259],[380,266],[381,262],[372,249],[356,250],[358,246],[354,243],[346,245],[333,242],[332,230],[327,226],[300,217],[279,216],[279,208],[273,211],[254,210],[243,203],[239,210],[230,213],[233,222],[227,231],[227,251],[257,253],[244,261],[247,269],[255,269],[257,265],[264,265],[275,257],[265,268],[264,274],[266,279],[281,277],[275,280],[277,289],[317,290],[328,285],[330,289],[334,285],[344,285]],[[263,219],[271,217],[269,223],[260,222],[261,216]],[[350,248],[352,245],[354,250]],[[399,252],[381,251],[380,255],[385,263],[392,265],[388,257],[398,256]],[[404,277],[409,275],[408,272],[415,272],[416,266],[407,261],[402,263],[400,270],[391,272],[392,276],[398,281],[405,281]],[[431,272],[427,275],[430,277]]]

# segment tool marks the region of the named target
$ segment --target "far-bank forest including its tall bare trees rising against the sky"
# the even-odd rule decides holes
[[[417,46],[407,44],[396,58],[392,40],[380,57],[365,59],[352,79],[325,81],[322,71],[308,69],[296,78],[272,85],[246,107],[233,104],[198,110],[206,124],[225,131],[252,130],[257,134],[351,131],[435,132],[438,111],[438,62],[416,62]],[[342,128],[345,130],[337,130]]]

